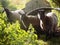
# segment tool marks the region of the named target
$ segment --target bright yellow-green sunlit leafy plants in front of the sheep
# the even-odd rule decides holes
[[[30,25],[28,31],[20,28],[18,21],[10,23],[6,14],[0,14],[0,45],[37,45],[37,35]],[[31,28],[31,29],[30,29]]]

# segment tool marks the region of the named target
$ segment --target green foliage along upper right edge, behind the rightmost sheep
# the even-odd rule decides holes
[[[54,7],[54,8],[60,8],[60,0],[47,0],[51,7]],[[56,11],[54,10],[53,12],[55,12],[57,14],[57,17],[58,17],[58,26],[60,26],[60,11]]]

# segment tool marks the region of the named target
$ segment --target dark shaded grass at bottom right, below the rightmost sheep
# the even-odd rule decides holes
[[[45,35],[41,35],[39,41],[43,41],[43,45],[60,45],[60,37],[53,37],[45,41]]]

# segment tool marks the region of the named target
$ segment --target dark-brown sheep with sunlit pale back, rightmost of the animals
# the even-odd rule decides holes
[[[58,18],[55,13],[49,12],[45,14],[45,10],[40,11],[40,27],[46,32],[46,40],[54,35],[57,28]]]

